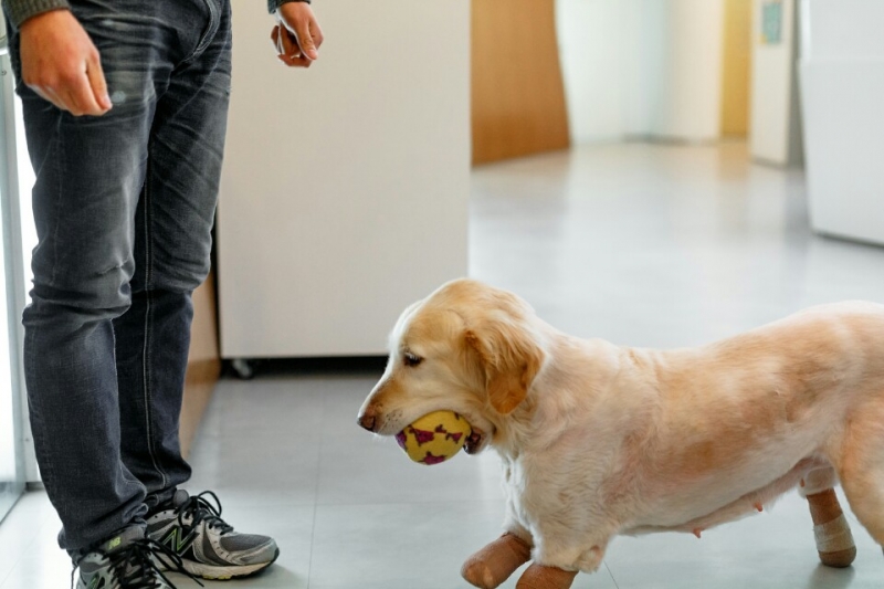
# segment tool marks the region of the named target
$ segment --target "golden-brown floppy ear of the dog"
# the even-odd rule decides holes
[[[540,370],[540,346],[508,317],[467,328],[464,337],[485,379],[492,407],[503,414],[512,412],[525,400]]]

